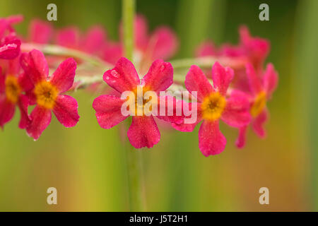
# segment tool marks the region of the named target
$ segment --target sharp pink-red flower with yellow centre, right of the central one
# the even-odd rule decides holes
[[[251,120],[249,100],[245,93],[232,90],[227,97],[228,86],[233,76],[232,69],[223,68],[218,62],[212,67],[213,86],[198,66],[193,65],[187,73],[187,90],[190,93],[197,92],[198,120],[192,125],[172,126],[179,131],[192,131],[196,124],[203,121],[199,129],[199,149],[206,157],[220,154],[225,148],[226,139],[219,129],[220,119],[237,128],[249,124]]]

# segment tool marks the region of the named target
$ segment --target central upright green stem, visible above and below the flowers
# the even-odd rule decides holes
[[[122,17],[124,28],[124,56],[134,62],[134,13],[135,0],[122,1]],[[126,161],[129,185],[129,207],[131,211],[144,211],[142,153],[134,151],[130,143],[126,143]]]

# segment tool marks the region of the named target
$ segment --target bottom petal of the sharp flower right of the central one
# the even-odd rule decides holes
[[[218,155],[223,152],[225,145],[226,139],[218,128],[218,121],[204,120],[199,129],[199,148],[201,153],[206,157]]]

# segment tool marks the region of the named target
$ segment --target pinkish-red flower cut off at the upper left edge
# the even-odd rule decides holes
[[[20,54],[20,40],[12,25],[23,20],[22,16],[0,18],[0,59],[14,59]]]

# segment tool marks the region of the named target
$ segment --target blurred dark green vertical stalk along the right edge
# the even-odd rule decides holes
[[[318,210],[318,1],[299,1],[295,27],[295,62],[292,80],[293,141],[300,151],[310,155],[312,185],[307,198],[312,198],[314,211]],[[307,187],[306,187],[307,188]],[[306,189],[305,188],[305,189]],[[313,197],[312,197],[313,196]]]

